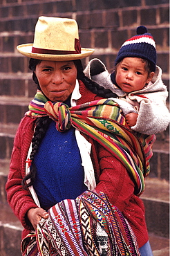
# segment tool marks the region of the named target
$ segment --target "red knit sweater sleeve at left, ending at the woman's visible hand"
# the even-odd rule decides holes
[[[14,147],[12,149],[12,156],[10,161],[10,172],[8,174],[8,181],[6,183],[6,192],[7,199],[10,207],[12,208],[15,215],[19,218],[22,225],[26,229],[31,229],[32,226],[29,221],[26,219],[26,212],[30,208],[37,208],[37,205],[32,199],[30,192],[28,190],[23,189],[21,185],[21,181],[23,176],[25,176],[25,163],[26,163],[26,151],[28,152],[28,148],[30,146],[30,141],[32,138],[32,134],[30,134],[30,141],[26,141],[25,136],[28,132],[28,127],[24,122],[25,120],[21,120],[19,125],[19,129],[17,130],[17,134],[15,136]],[[25,155],[25,156],[24,156]],[[23,161],[24,156],[24,161]]]

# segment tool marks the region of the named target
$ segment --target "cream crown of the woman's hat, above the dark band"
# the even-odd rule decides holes
[[[39,17],[33,47],[75,52],[75,39],[79,42],[78,26],[74,19]]]

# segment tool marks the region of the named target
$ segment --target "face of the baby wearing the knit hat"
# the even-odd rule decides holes
[[[153,72],[148,75],[145,68],[145,62],[138,57],[125,57],[117,66],[115,81],[125,93],[138,91],[148,84]]]

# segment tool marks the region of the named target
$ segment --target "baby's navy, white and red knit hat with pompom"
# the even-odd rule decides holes
[[[126,40],[122,44],[120,51],[115,59],[115,65],[124,57],[141,57],[151,63],[151,71],[155,71],[156,49],[155,41],[150,33],[147,33],[145,26],[139,26],[136,30],[137,35]]]

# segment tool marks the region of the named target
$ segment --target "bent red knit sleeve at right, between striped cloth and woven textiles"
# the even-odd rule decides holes
[[[134,183],[117,158],[100,145],[98,149],[102,174],[96,190],[106,193],[111,203],[123,211],[133,195]]]

